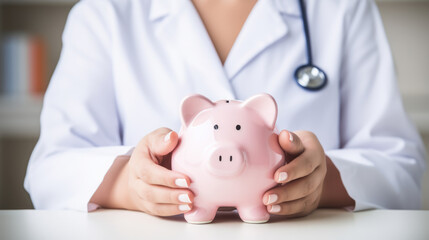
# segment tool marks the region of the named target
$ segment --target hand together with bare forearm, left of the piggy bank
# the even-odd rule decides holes
[[[178,143],[177,133],[159,128],[146,135],[130,158],[118,157],[91,198],[106,208],[172,216],[192,209],[190,179],[167,166]]]

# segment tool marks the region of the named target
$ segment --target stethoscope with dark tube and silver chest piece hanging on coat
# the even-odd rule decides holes
[[[328,82],[328,76],[319,67],[313,64],[313,56],[311,53],[310,33],[308,30],[307,11],[305,9],[304,1],[299,0],[299,6],[301,8],[302,25],[304,28],[305,42],[307,47],[307,59],[308,63],[299,66],[295,70],[295,80],[299,86],[310,91],[316,91],[326,86]]]

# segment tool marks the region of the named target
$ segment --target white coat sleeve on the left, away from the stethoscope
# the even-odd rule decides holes
[[[36,209],[88,211],[113,161],[132,149],[121,146],[105,2],[83,0],[70,12],[24,183]]]

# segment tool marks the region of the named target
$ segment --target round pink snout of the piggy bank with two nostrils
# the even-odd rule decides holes
[[[214,147],[208,161],[208,170],[216,176],[235,176],[244,167],[244,152],[235,145]]]

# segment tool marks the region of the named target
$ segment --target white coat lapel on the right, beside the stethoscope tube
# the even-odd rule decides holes
[[[229,52],[224,68],[229,79],[271,44],[285,37],[288,26],[281,14],[299,16],[297,0],[259,0]]]

